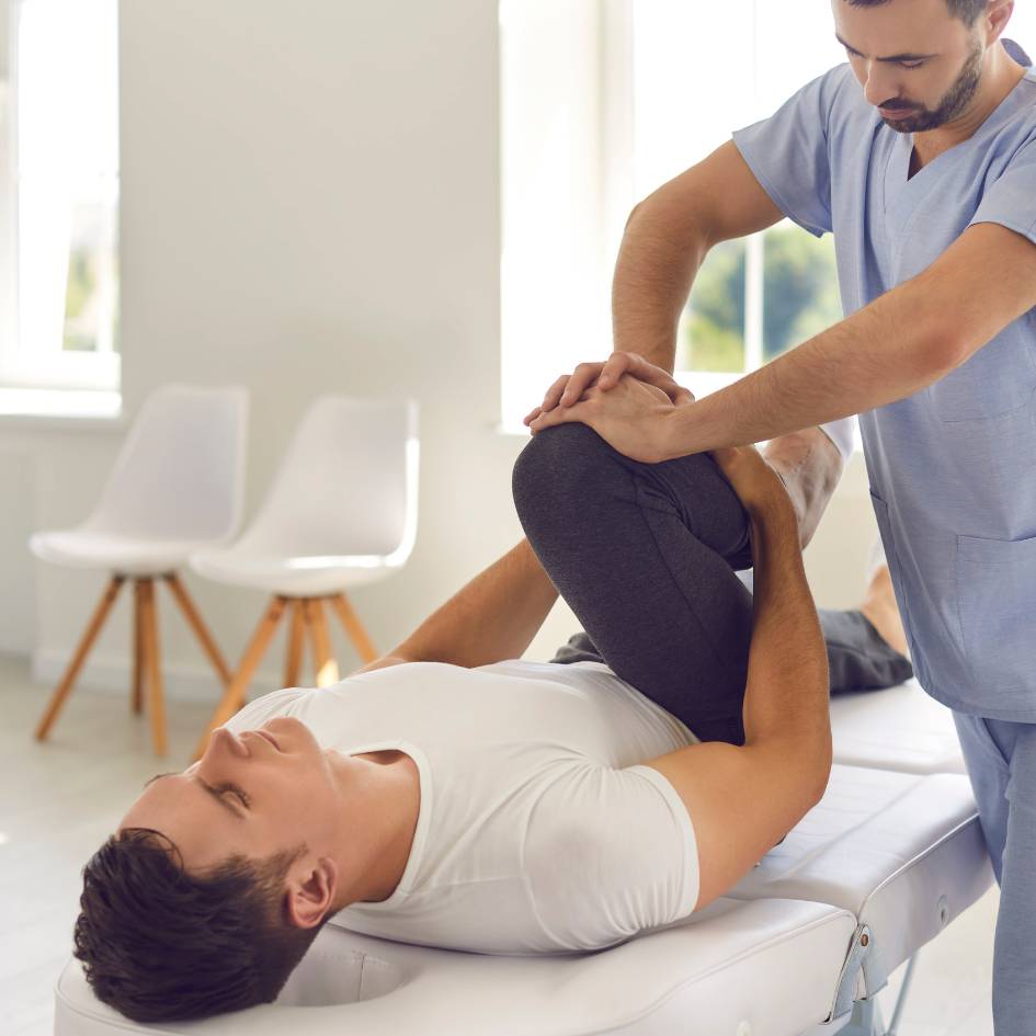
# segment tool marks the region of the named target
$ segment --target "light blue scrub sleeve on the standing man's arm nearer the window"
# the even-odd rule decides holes
[[[777,208],[818,238],[831,230],[828,113],[844,68],[807,83],[770,118],[733,134],[741,157]]]

